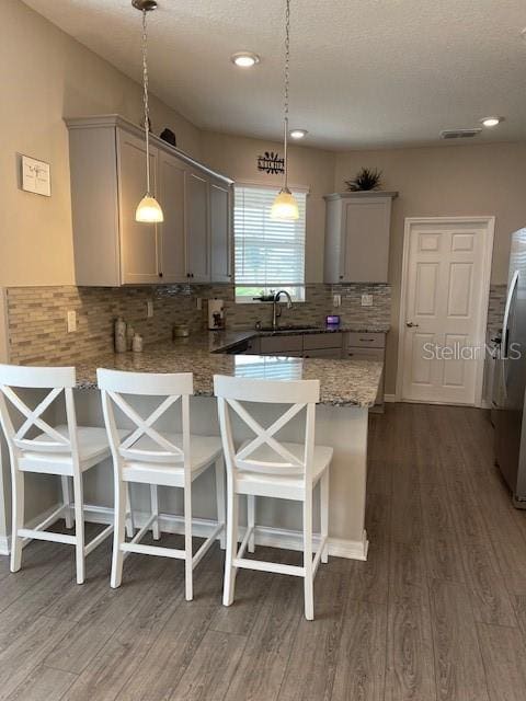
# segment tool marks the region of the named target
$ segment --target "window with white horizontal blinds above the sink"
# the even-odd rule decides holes
[[[276,188],[235,186],[236,300],[253,301],[286,289],[305,299],[305,210],[307,193],[295,192],[297,221],[271,219]]]

